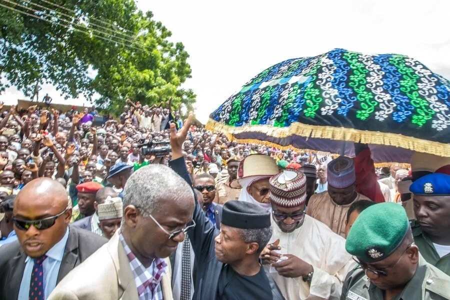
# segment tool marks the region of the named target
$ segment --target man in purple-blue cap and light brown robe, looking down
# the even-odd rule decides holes
[[[340,156],[328,163],[328,190],[309,199],[306,213],[345,237],[345,217],[351,203],[366,199],[356,191],[353,159]]]

